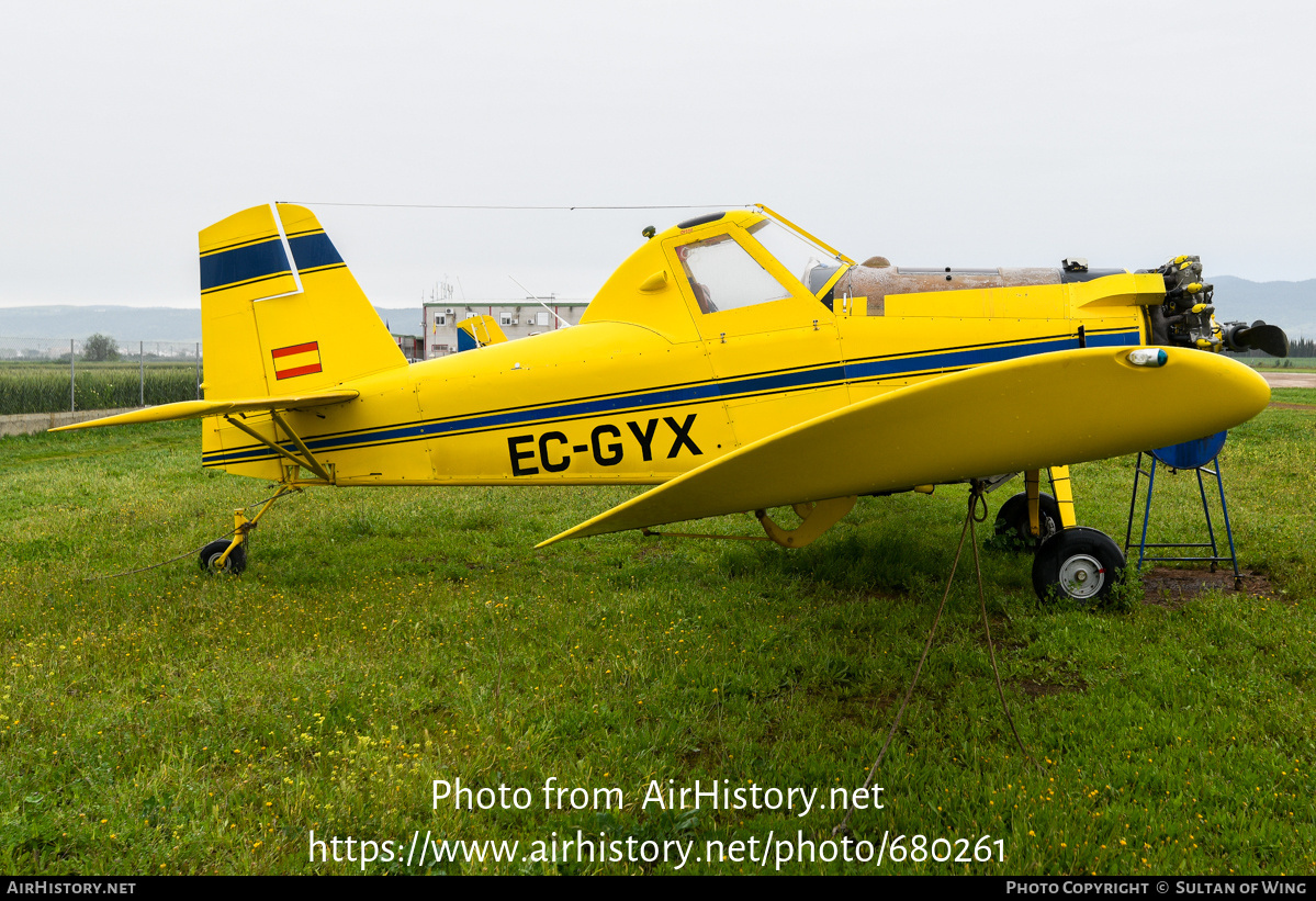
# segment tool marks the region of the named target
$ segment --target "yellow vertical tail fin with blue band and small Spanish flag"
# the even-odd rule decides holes
[[[199,243],[207,400],[320,392],[407,366],[309,209],[253,207]]]

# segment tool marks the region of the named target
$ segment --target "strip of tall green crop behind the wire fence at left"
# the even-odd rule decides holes
[[[74,367],[80,410],[196,400],[196,363],[84,363]],[[0,416],[68,409],[68,363],[0,363]]]

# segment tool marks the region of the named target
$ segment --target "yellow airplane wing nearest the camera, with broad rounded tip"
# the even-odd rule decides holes
[[[1191,441],[1270,400],[1254,371],[1165,347],[1088,347],[979,366],[833,410],[738,447],[542,542],[801,501],[1083,463]]]

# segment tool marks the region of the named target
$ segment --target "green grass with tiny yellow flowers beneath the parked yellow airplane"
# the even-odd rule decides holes
[[[1057,609],[1034,600],[1026,558],[984,550],[1030,763],[1000,710],[966,556],[875,777],[884,808],[851,821],[857,840],[887,835],[882,865],[782,871],[1316,873],[1316,391],[1275,400],[1291,408],[1234,430],[1223,456],[1241,562],[1269,589]],[[630,492],[317,491],[262,524],[240,579],[187,556],[87,581],[197,547],[270,493],[200,470],[199,431],[0,439],[5,872],[361,872],[311,863],[312,830],[397,843],[372,873],[676,869],[533,859],[533,842],[578,829],[636,848],[692,840],[680,872],[774,872],[772,843],[797,835],[825,855],[840,812],[817,805],[867,776],[965,510],[963,489],[942,487],[863,499],[800,551],[634,534],[534,551]],[[1132,460],[1075,467],[1074,483],[1080,521],[1123,539]],[[1158,484],[1159,539],[1196,541],[1195,481]],[[433,780],[457,779],[529,789],[530,804],[436,809]],[[546,809],[549,779],[617,788],[624,806]],[[653,780],[819,793],[805,816],[707,798],[663,810],[644,804]],[[520,850],[408,867],[416,830]],[[709,840],[770,858],[696,860]],[[948,847],[992,860],[926,859]]]

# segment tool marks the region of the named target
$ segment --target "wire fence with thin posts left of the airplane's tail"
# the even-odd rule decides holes
[[[0,337],[0,416],[200,397],[200,342]]]

